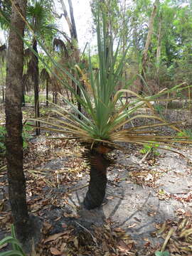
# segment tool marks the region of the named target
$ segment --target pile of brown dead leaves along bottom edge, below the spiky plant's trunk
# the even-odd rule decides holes
[[[110,224],[102,227],[92,226],[87,230],[74,223],[63,233],[48,235],[50,226],[43,228],[44,238],[36,249],[36,256],[126,256],[137,255],[134,241],[122,228],[112,228]]]

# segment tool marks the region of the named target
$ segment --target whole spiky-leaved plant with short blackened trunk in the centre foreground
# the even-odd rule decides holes
[[[102,205],[107,185],[107,167],[112,163],[107,154],[113,149],[120,149],[119,142],[158,143],[160,147],[171,142],[190,143],[186,137],[160,135],[156,129],[159,126],[169,126],[176,131],[180,130],[174,124],[168,124],[164,119],[161,119],[155,112],[152,112],[153,114],[138,114],[139,109],[143,108],[144,105],[152,110],[150,100],[165,94],[165,91],[152,97],[142,97],[127,89],[117,91],[117,85],[122,78],[125,55],[119,58],[119,45],[114,50],[112,38],[106,38],[105,25],[106,14],[99,10],[97,11],[99,69],[96,73],[92,69],[91,59],[89,60],[88,79],[78,65],[76,68],[80,80],[75,79],[67,70],[60,68],[61,72],[69,75],[80,87],[81,97],[75,91],[73,93],[76,100],[80,102],[83,112],[80,112],[76,105],[63,97],[63,100],[73,111],[68,112],[65,107],[55,105],[53,111],[57,117],[48,117],[48,120],[40,119],[41,123],[46,124],[41,129],[68,134],[67,139],[76,139],[85,147],[85,153],[82,156],[90,165],[90,183],[84,205],[89,210]],[[82,86],[82,80],[86,86]],[[73,90],[70,87],[68,89]],[[121,100],[124,92],[134,95],[134,102],[124,104]],[[120,107],[119,102],[121,102]],[[138,118],[153,119],[153,121],[155,119],[157,122],[135,127],[129,125]]]

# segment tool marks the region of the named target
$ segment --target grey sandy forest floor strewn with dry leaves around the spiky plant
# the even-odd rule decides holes
[[[26,107],[23,115],[30,112]],[[186,129],[188,112],[170,110],[171,122],[178,118]],[[141,146],[124,147],[111,154],[115,163],[108,169],[102,207],[85,210],[89,169],[81,158],[83,149],[75,141],[49,139],[46,132],[30,139],[24,156],[27,203],[43,223],[34,255],[145,256],[158,250],[192,255],[192,147],[179,150],[182,154],[157,148],[147,155]],[[0,239],[9,233],[11,222],[2,169]]]

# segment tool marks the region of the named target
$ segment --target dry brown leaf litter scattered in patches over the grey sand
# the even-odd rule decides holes
[[[138,147],[134,147],[131,154],[137,156],[138,152]],[[114,228],[115,223],[110,220],[107,220],[104,225],[92,225],[87,228],[80,222],[80,216],[77,214],[78,206],[74,207],[69,203],[68,196],[70,196],[70,193],[81,189],[81,187],[73,188],[73,186],[88,173],[85,161],[80,158],[81,153],[82,149],[74,141],[50,140],[45,134],[29,142],[28,149],[25,151],[24,170],[28,207],[34,215],[37,215],[43,221],[42,240],[36,249],[36,255],[138,255],[137,242],[130,235],[127,235],[123,228]],[[62,161],[63,157],[65,161]],[[55,159],[61,160],[60,166],[54,166]],[[53,165],[51,165],[51,162],[53,162]],[[4,163],[4,159],[2,159],[2,163]],[[48,163],[50,163],[50,167],[47,169],[45,165],[47,166]],[[156,181],[168,170],[160,168],[158,171],[154,171],[149,166],[159,166],[156,157],[150,155],[150,157],[144,159],[138,168],[135,165],[129,166],[129,169],[131,167],[132,170],[129,171],[126,180],[156,189],[156,196],[161,200],[174,198],[182,203],[191,202],[191,191],[183,195],[177,195],[159,190]],[[118,167],[120,170],[124,169],[126,171],[126,166],[119,164]],[[4,188],[4,197],[3,199],[0,197],[0,229],[4,234],[9,233],[10,225],[13,222],[8,203],[8,184],[6,178],[4,178],[5,176],[6,171],[1,171],[0,188]],[[116,178],[114,182],[118,184],[120,181],[121,178]],[[113,198],[114,195],[108,196],[108,200]],[[63,211],[61,213],[63,216],[55,214],[55,216],[51,216],[54,218],[48,218],[48,215],[46,215],[47,212],[58,208],[60,211],[62,207]],[[69,208],[73,208],[73,210],[68,210]],[[63,217],[66,220],[65,222],[63,222]],[[58,223],[61,226],[61,228],[58,228],[59,232],[55,228]],[[134,225],[136,224],[129,225],[129,228],[133,228]],[[186,212],[183,208],[178,209],[177,220],[166,220],[162,225],[156,224],[156,229],[154,235],[157,238],[163,238],[164,242],[159,247],[152,247],[150,241],[146,238],[145,255],[154,255],[156,250],[169,250],[171,256],[192,255],[191,212]]]

